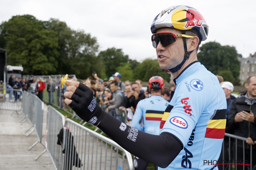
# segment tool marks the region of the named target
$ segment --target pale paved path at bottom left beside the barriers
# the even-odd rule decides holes
[[[46,132],[47,106],[44,107],[43,143]],[[38,160],[34,160],[43,150],[38,143],[30,151],[28,148],[37,141],[35,132],[26,137],[25,131],[30,127],[26,121],[20,125],[24,115],[10,116],[12,111],[0,109],[0,169],[1,170],[54,170],[49,154],[45,152]]]

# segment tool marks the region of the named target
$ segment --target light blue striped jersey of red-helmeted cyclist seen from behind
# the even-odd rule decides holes
[[[159,135],[160,122],[168,104],[167,100],[158,95],[139,101],[131,126],[146,133]],[[142,126],[140,124],[141,119]]]

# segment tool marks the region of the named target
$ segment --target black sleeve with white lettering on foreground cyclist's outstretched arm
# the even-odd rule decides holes
[[[183,148],[182,142],[173,134],[144,133],[109,114],[104,115],[98,127],[131,154],[162,168],[166,168]]]

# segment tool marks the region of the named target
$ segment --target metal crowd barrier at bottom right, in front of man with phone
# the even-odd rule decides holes
[[[248,161],[247,164],[252,165],[252,145],[249,145],[250,146],[250,158],[251,159],[250,160],[245,160],[244,145],[247,144],[246,143],[247,138],[232,135],[232,134],[229,134],[229,133],[225,133],[225,137],[228,137],[228,148],[227,148],[228,149],[228,158],[225,157],[225,145],[224,145],[225,141],[223,141],[223,145],[222,145],[223,160],[219,160],[221,162],[218,162],[218,164],[229,164],[229,165],[226,165],[226,166],[221,165],[221,167],[219,167],[219,169],[227,169],[227,167],[228,167],[229,170],[232,170],[232,165],[231,165],[232,163],[236,164],[235,169],[237,169],[237,166],[238,166],[237,164],[246,164],[245,161]],[[237,159],[237,148],[238,148],[237,143],[238,143],[238,140],[243,143],[242,144],[243,145],[243,160],[238,160]],[[254,143],[256,144],[256,141],[254,141]],[[232,151],[233,151],[233,153],[232,153]],[[254,158],[254,159],[256,159],[256,158]],[[245,165],[239,165],[239,166],[243,166],[243,170],[247,170],[247,167]],[[249,166],[249,167],[250,167],[250,170],[252,170],[253,166]]]

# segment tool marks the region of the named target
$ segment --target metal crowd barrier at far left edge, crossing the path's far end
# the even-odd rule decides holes
[[[13,111],[11,116],[22,111],[23,91],[21,89],[0,87],[0,109]]]

